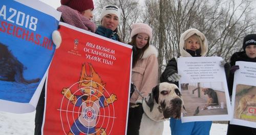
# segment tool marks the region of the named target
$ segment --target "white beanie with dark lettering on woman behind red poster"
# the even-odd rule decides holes
[[[101,13],[100,13],[100,18],[99,18],[100,24],[101,24],[102,18],[103,18],[105,15],[107,15],[107,14],[115,14],[115,15],[118,17],[118,21],[119,21],[120,15],[121,15],[121,11],[120,11],[120,9],[119,9],[117,6],[115,6],[115,5],[107,5],[107,6],[105,6],[105,7],[102,9]]]

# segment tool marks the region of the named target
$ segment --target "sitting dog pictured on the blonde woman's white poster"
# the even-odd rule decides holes
[[[204,93],[204,95],[208,96],[207,103],[205,105],[219,105],[218,96],[214,89],[203,88],[202,92]]]

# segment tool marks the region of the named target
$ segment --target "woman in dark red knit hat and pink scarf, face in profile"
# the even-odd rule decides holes
[[[95,32],[96,26],[91,19],[93,18],[92,10],[94,9],[92,0],[61,0],[61,6],[57,8],[62,12],[60,21],[77,28]],[[52,33],[52,39],[56,45],[56,49],[60,46],[61,35],[59,31]],[[42,119],[44,117],[45,106],[45,84],[42,87],[41,95],[36,106],[35,115],[35,132],[34,134],[41,134]]]

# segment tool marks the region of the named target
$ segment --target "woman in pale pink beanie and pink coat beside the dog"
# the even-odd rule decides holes
[[[130,40],[129,44],[133,46],[132,82],[143,96],[148,96],[152,88],[158,84],[158,51],[150,45],[151,27],[143,23],[132,25]],[[142,97],[137,91],[131,95],[130,106],[142,102]],[[127,134],[134,134],[138,131],[134,124],[140,123],[143,114],[140,110],[140,107],[129,108]]]

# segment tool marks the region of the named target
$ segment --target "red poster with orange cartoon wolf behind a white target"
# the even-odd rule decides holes
[[[132,46],[60,22],[44,134],[125,134]]]

